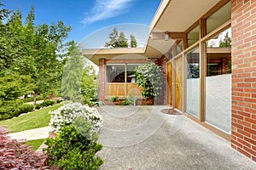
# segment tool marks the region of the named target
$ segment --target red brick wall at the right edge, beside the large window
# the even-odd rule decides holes
[[[256,0],[232,0],[231,22],[231,146],[256,161]]]

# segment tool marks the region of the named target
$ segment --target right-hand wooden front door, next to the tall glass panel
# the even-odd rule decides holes
[[[183,111],[183,58],[175,60],[175,108]]]

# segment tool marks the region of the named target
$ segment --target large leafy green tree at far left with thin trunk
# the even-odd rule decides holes
[[[15,71],[28,75],[34,84],[34,105],[38,94],[51,93],[61,88],[64,47],[70,26],[62,21],[52,25],[34,24],[34,8],[22,22],[20,9],[9,13],[0,26],[0,71]]]

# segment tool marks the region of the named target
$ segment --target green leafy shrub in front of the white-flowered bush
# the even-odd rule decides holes
[[[46,140],[49,165],[61,169],[98,169],[103,160],[95,155],[102,150],[102,144],[96,140],[91,122],[78,117],[74,124],[61,127],[55,139]]]

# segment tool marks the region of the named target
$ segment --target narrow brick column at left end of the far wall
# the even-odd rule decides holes
[[[105,72],[105,59],[99,60],[99,100],[105,100],[105,82],[106,82],[106,72]]]

